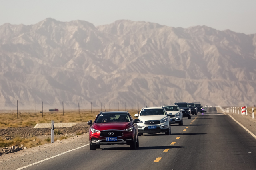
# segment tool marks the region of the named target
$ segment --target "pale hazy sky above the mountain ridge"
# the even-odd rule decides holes
[[[45,18],[104,25],[120,19],[256,33],[256,0],[0,0],[0,25]]]

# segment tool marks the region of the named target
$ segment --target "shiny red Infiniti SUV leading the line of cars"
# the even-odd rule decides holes
[[[100,145],[128,144],[131,149],[139,147],[139,119],[133,120],[125,111],[100,112],[94,123],[88,121],[90,150],[100,148]]]

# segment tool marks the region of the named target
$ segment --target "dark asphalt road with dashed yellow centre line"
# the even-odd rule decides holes
[[[142,135],[139,141],[137,150],[108,145],[90,151],[86,146],[26,169],[256,169],[256,139],[216,108],[185,118],[183,126],[172,125],[170,136]]]

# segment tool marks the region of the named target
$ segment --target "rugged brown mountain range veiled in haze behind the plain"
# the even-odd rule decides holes
[[[256,104],[256,34],[118,20],[0,26],[0,103]]]

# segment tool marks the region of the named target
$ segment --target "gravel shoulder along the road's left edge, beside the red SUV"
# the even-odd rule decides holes
[[[63,139],[53,144],[48,143],[38,147],[20,150],[19,152],[2,155],[0,156],[0,170],[15,170],[68,150],[81,147],[89,143],[88,138],[89,134],[86,133],[76,137]]]

